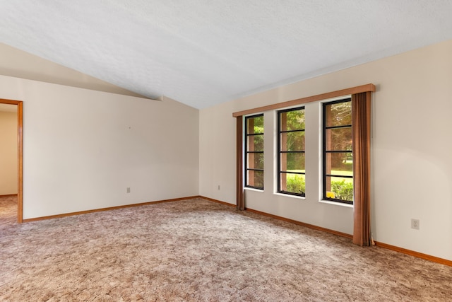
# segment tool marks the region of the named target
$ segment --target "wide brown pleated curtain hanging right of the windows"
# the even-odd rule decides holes
[[[370,127],[371,93],[352,95],[353,243],[361,246],[373,244],[370,233]]]

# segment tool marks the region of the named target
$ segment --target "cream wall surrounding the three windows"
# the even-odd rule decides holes
[[[452,40],[201,110],[200,194],[235,203],[232,112],[374,83],[374,239],[452,260],[451,53]],[[306,199],[274,194],[274,167],[268,163],[273,161],[275,147],[267,144],[274,135],[268,131],[274,130],[274,114],[265,114],[266,190],[246,190],[246,207],[351,234],[352,208],[319,202],[318,194]],[[311,120],[311,127],[317,122]],[[319,144],[318,138],[307,137],[307,144]],[[307,173],[308,169],[318,173],[316,157],[307,151]],[[311,187],[314,190],[318,188]],[[410,228],[412,218],[420,219],[419,231]]]

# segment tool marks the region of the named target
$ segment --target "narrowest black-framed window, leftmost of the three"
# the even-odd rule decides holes
[[[263,190],[263,114],[245,117],[245,186]]]

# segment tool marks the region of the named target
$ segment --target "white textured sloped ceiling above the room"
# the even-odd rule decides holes
[[[194,108],[452,38],[451,0],[0,0],[0,42]]]

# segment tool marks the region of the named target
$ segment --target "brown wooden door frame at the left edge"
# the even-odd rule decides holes
[[[17,153],[18,153],[18,188],[17,188],[17,222],[23,222],[23,101],[5,100],[0,104],[17,105]]]

